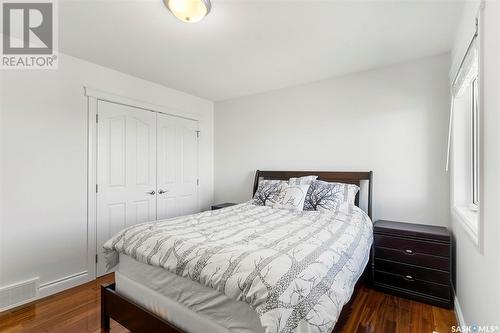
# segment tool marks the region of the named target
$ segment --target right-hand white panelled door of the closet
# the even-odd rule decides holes
[[[157,115],[158,219],[198,211],[198,123]]]

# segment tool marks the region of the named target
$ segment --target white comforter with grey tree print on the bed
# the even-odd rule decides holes
[[[104,245],[250,304],[266,332],[330,332],[368,260],[372,224],[245,203],[124,229]]]

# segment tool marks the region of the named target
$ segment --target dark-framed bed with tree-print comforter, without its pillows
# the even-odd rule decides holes
[[[311,174],[365,190],[335,212],[247,202],[115,235],[102,330],[113,318],[133,332],[337,332],[369,267],[372,173],[257,171],[253,193],[262,179]]]

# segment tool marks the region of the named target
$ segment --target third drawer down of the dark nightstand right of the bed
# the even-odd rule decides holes
[[[446,271],[438,271],[381,259],[375,259],[375,267],[377,267],[379,271],[390,272],[409,279],[423,280],[444,285],[450,284],[450,273]]]

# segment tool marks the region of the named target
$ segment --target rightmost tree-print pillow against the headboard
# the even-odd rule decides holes
[[[330,211],[343,203],[354,204],[358,191],[356,185],[315,180],[307,191],[304,210]]]

